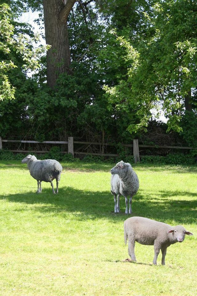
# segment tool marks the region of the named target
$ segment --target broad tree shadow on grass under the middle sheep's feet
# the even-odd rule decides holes
[[[133,198],[132,215],[126,215],[125,200],[120,198],[121,213],[114,213],[114,199],[109,191],[83,191],[73,187],[62,187],[57,195],[51,189],[44,188],[41,194],[33,192],[0,195],[0,199],[20,203],[15,211],[25,210],[23,205],[34,205],[32,211],[54,213],[62,217],[73,214],[78,221],[97,218],[108,218],[116,223],[130,216],[143,216],[166,222],[172,220],[175,224],[190,224],[197,220],[196,193],[183,191],[158,191],[151,197],[143,195],[140,190]],[[183,199],[187,196],[190,200]],[[168,223],[168,222],[167,222]]]

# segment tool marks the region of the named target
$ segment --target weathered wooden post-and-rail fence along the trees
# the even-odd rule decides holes
[[[101,145],[102,151],[104,151],[104,146],[115,146],[115,144],[110,143],[103,143],[103,142],[81,142],[81,141],[73,141],[73,137],[68,137],[68,141],[25,141],[25,140],[4,140],[0,136],[0,149],[3,149],[2,142],[12,142],[12,143],[39,143],[39,144],[67,144],[68,150],[62,151],[61,153],[71,153],[71,154],[82,154],[82,155],[100,155],[100,156],[119,156],[118,154],[106,154],[106,153],[90,153],[90,152],[80,152],[80,151],[74,151],[74,144],[82,144],[82,145]],[[186,147],[186,146],[165,146],[165,145],[142,145],[138,144],[138,140],[134,139],[132,144],[122,144],[124,147],[133,147],[133,156],[135,159],[135,162],[140,161],[140,157],[144,157],[145,155],[139,156],[139,147],[143,148],[166,148],[166,149],[196,149],[194,147]],[[46,150],[9,150],[12,152],[19,152],[19,153],[46,153],[49,151]]]

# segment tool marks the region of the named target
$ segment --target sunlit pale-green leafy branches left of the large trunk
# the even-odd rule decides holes
[[[25,63],[21,65],[21,68],[24,71],[33,71],[39,68],[40,55],[50,48],[49,46],[36,47],[34,45],[39,40],[38,35],[30,39],[24,34],[14,31],[14,26],[11,23],[13,21],[14,14],[11,14],[9,6],[0,5],[0,100],[14,98],[15,87],[10,84],[8,77],[9,72],[18,67],[14,63],[14,52]]]

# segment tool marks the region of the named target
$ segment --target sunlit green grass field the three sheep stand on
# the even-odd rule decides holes
[[[114,214],[109,164],[62,163],[59,193],[18,161],[0,162],[0,295],[197,295],[197,167],[136,165],[134,216],[181,224],[193,236],[152,265],[153,246],[124,245],[122,213]],[[55,185],[55,182],[54,182]]]

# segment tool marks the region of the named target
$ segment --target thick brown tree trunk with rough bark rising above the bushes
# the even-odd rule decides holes
[[[70,46],[67,31],[67,18],[76,0],[43,0],[47,51],[47,84],[54,88],[61,73],[69,73]],[[64,5],[65,4],[65,5]]]

